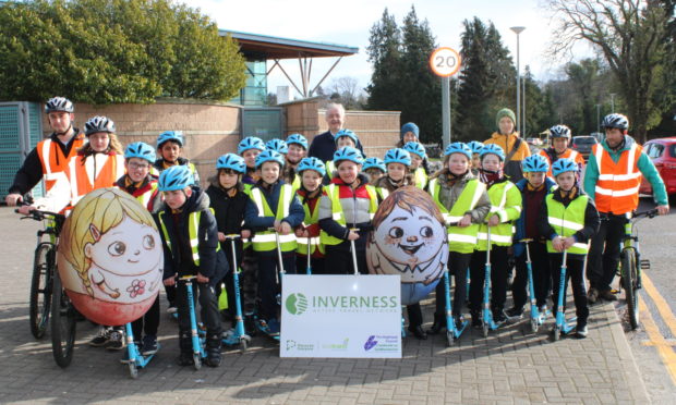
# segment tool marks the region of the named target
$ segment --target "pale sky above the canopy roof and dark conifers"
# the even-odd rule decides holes
[[[560,66],[567,61],[552,61],[545,57],[551,40],[553,22],[542,7],[543,0],[184,0],[193,8],[200,8],[221,29],[252,34],[271,35],[283,38],[318,42],[330,42],[358,47],[359,53],[343,58],[322,85],[331,79],[351,76],[365,87],[371,78],[372,66],[367,61],[369,32],[381,20],[385,8],[401,24],[406,14],[415,7],[419,20],[427,20],[439,46],[460,50],[462,21],[480,17],[484,23],[493,22],[500,33],[503,44],[510,50],[516,63],[517,36],[509,27],[524,26],[520,34],[520,65],[529,65],[538,81],[547,81],[560,75]],[[590,57],[587,46],[576,48],[578,56]],[[333,58],[317,58],[313,62],[311,87],[324,76],[334,63]],[[273,62],[268,62],[268,69]],[[300,83],[298,60],[282,62],[289,75]],[[276,93],[277,86],[289,85],[281,71],[276,68],[268,77],[268,93]],[[297,95],[298,96],[298,95]]]

